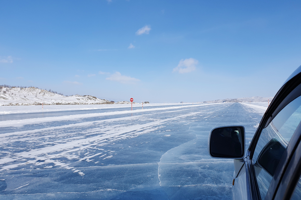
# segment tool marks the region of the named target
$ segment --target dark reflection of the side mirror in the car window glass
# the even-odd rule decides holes
[[[277,139],[273,138],[262,149],[256,163],[269,175],[274,176],[284,151],[285,147]]]

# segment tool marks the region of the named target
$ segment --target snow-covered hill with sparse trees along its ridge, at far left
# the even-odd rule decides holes
[[[89,95],[64,96],[35,87],[0,88],[0,106],[14,105],[59,105],[59,104],[113,104],[113,101],[98,99]]]

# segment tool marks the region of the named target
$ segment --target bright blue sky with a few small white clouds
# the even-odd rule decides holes
[[[274,96],[300,1],[1,1],[0,84],[114,101]]]

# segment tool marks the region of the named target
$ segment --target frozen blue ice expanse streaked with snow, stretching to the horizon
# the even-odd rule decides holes
[[[243,125],[267,103],[0,107],[0,199],[231,199],[233,160],[209,131]]]

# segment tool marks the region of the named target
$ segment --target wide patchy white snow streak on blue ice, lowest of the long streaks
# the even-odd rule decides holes
[[[191,112],[185,115],[178,115],[172,118],[157,120],[153,122],[149,122],[146,124],[137,124],[132,125],[130,127],[123,127],[119,130],[112,129],[106,134],[99,134],[96,136],[88,137],[88,138],[82,138],[78,140],[70,140],[64,143],[58,143],[52,146],[47,146],[43,148],[33,149],[30,151],[23,151],[18,153],[13,153],[11,155],[8,155],[6,157],[2,157],[0,159],[0,163],[10,163],[21,159],[36,159],[36,160],[30,160],[28,162],[30,163],[36,163],[37,160],[45,160],[44,162],[47,163],[55,163],[55,165],[59,165],[66,169],[71,169],[68,167],[69,164],[61,163],[61,162],[54,162],[52,159],[60,158],[60,157],[66,157],[67,159],[77,159],[78,156],[69,154],[70,152],[75,152],[78,150],[81,150],[82,148],[89,148],[91,146],[95,145],[101,145],[103,142],[106,142],[108,140],[118,140],[118,139],[124,139],[127,137],[137,137],[138,135],[149,133],[151,131],[157,130],[160,126],[160,124],[164,124],[167,121],[172,121],[178,118],[183,118],[191,115],[196,115],[199,112]],[[54,154],[55,152],[59,152],[58,154]],[[48,160],[48,161],[47,161]],[[7,166],[2,166],[3,170],[9,170],[11,168],[15,168],[17,166],[26,165],[26,163],[16,163],[11,164]],[[73,168],[73,167],[72,167]]]

